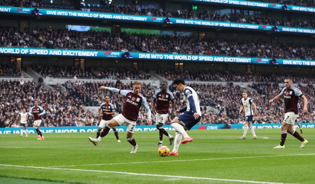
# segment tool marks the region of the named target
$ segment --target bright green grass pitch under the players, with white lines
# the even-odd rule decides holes
[[[299,132],[299,129],[297,129]],[[175,131],[168,131],[175,136]],[[305,148],[288,134],[285,148],[280,129],[255,129],[257,139],[244,140],[242,129],[192,130],[192,142],[181,144],[179,156],[160,157],[158,131],[134,133],[139,148],[126,132],[113,132],[94,146],[96,132],[0,135],[0,183],[315,183],[315,129],[303,128]],[[300,133],[300,132],[299,132]],[[169,146],[167,136],[163,144]]]

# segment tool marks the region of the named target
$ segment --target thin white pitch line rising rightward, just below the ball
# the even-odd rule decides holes
[[[223,159],[248,159],[248,158],[284,157],[284,156],[297,156],[297,155],[315,155],[315,153],[309,153],[309,154],[295,154],[295,155],[269,155],[269,156],[255,156],[255,157],[230,157],[230,158],[215,158],[215,159],[190,159],[190,160],[165,160],[165,161],[150,161],[150,162],[129,162],[129,163],[108,163],[108,164],[64,165],[64,166],[51,166],[51,167],[46,167],[46,168],[54,168],[54,167],[79,167],[79,166],[91,166],[91,165],[144,164],[144,163],[158,163],[158,162],[183,162],[183,161],[201,161],[201,160],[223,160]]]

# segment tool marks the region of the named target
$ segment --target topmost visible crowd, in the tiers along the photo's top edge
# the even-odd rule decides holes
[[[256,0],[257,1],[257,0]],[[279,3],[279,4],[290,4],[296,6],[306,6],[313,7],[313,2],[310,3],[306,1],[260,1],[260,2],[269,2],[269,3]],[[14,6],[20,7],[37,7],[37,8],[61,8],[61,9],[74,9],[74,7],[69,3],[50,3],[40,0],[28,1],[28,0],[16,0],[13,2]],[[200,10],[197,14],[194,14],[192,11],[187,11],[186,9],[178,10],[165,10],[163,8],[157,8],[157,6],[152,5],[142,5],[142,7],[137,6],[124,6],[120,4],[111,3],[100,4],[100,5],[83,5],[81,4],[81,9],[89,9],[90,11],[95,12],[108,12],[108,13],[117,13],[117,14],[133,14],[133,15],[146,15],[146,16],[159,16],[159,17],[176,17],[183,19],[200,19],[200,20],[214,20],[214,21],[225,21],[225,22],[240,22],[240,23],[250,23],[250,24],[260,24],[260,25],[277,25],[277,26],[286,26],[286,27],[297,27],[297,28],[314,28],[315,22],[313,20],[276,20],[271,19],[270,17],[260,17],[260,16],[248,16],[239,13],[225,13],[219,14],[218,11],[212,11],[212,9],[205,8]],[[214,7],[215,8],[215,7]],[[168,23],[171,23],[168,22]]]

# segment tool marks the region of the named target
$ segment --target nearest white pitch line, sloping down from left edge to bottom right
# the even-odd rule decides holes
[[[0,164],[2,166],[9,167],[26,167],[35,169],[52,169],[52,170],[76,170],[76,171],[88,171],[88,172],[104,172],[104,173],[115,173],[115,174],[126,174],[126,175],[138,175],[138,176],[156,176],[156,177],[169,177],[179,179],[198,179],[198,180],[213,180],[213,181],[231,181],[231,182],[242,182],[242,183],[261,183],[261,184],[294,184],[294,183],[278,183],[278,182],[267,182],[267,181],[247,181],[247,180],[231,180],[231,179],[220,179],[220,178],[204,178],[204,177],[191,177],[191,176],[171,176],[171,175],[156,175],[156,174],[145,174],[145,173],[133,173],[133,172],[119,172],[119,171],[106,171],[106,170],[86,170],[86,169],[62,169],[62,168],[47,168],[47,167],[34,167],[34,166],[22,166],[22,165],[7,165]]]

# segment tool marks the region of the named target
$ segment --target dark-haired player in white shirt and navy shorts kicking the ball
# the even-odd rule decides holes
[[[178,156],[178,147],[180,143],[186,144],[187,142],[192,142],[192,138],[188,136],[186,130],[190,130],[194,125],[196,125],[201,120],[201,111],[199,106],[198,95],[194,89],[185,85],[184,79],[175,78],[173,80],[173,85],[181,93],[184,93],[183,100],[186,102],[186,107],[180,110],[176,110],[175,113],[179,114],[176,116],[170,125],[176,130],[174,148],[169,155]],[[184,136],[184,140],[181,140],[181,136]]]

